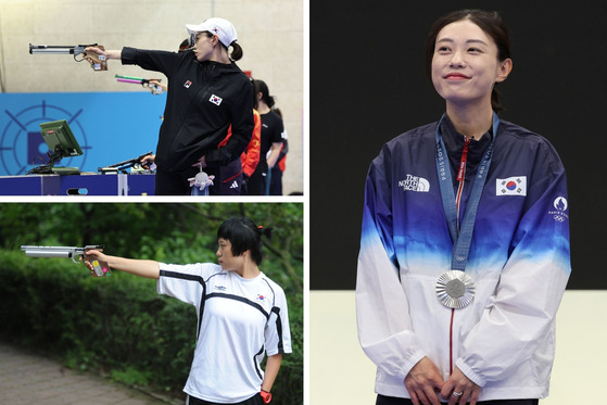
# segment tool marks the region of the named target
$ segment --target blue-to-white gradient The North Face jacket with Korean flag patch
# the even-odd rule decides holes
[[[409,397],[404,379],[425,356],[446,381],[452,344],[453,366],[482,387],[479,401],[545,397],[571,273],[565,169],[546,139],[502,121],[466,267],[476,295],[455,309],[451,328],[452,309],[434,290],[453,250],[437,125],[384,144],[367,176],[356,312],[361,345],[377,365],[376,392]],[[448,118],[441,131],[455,176],[465,138]],[[460,218],[491,137],[470,143]]]

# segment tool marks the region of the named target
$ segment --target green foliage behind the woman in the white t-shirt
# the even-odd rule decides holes
[[[275,229],[261,268],[287,294],[293,354],[273,391],[277,404],[303,403],[302,204],[0,204],[0,336],[74,369],[180,392],[195,344],[193,307],[157,295],[153,280],[91,278],[69,260],[25,257],[20,245],[104,244],[118,256],[215,262],[216,229],[230,216]]]

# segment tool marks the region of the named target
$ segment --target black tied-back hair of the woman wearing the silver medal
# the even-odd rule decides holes
[[[430,77],[432,76],[432,58],[434,55],[439,33],[448,24],[461,20],[471,21],[493,39],[497,46],[497,60],[499,62],[504,62],[506,59],[510,58],[510,35],[508,34],[508,27],[504,24],[496,11],[475,9],[453,11],[437,20],[428,34],[428,42],[426,43],[426,71]],[[496,112],[504,110],[499,103],[499,92],[495,86],[491,92],[491,106]]]

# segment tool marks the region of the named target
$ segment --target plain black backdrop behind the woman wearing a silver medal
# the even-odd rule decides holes
[[[311,289],[354,289],[369,163],[384,142],[444,112],[425,72],[426,36],[463,8],[501,13],[514,60],[498,87],[501,116],[546,137],[565,164],[568,288],[607,289],[607,35],[594,2],[565,0],[311,1]]]

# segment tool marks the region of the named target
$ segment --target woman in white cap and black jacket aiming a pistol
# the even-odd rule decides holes
[[[219,167],[240,156],[253,131],[252,86],[233,63],[242,58],[236,28],[216,17],[186,28],[192,52],[86,49],[162,72],[170,83],[155,155],[155,194],[189,194],[188,178],[201,167],[216,175]],[[217,149],[230,124],[233,136]]]

